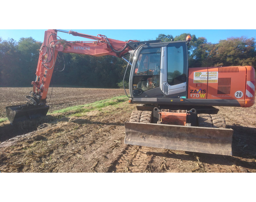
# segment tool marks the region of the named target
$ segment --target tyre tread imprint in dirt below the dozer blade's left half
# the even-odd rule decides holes
[[[120,153],[108,172],[114,173],[144,173],[150,172],[150,163],[154,155],[149,155],[152,148],[127,145]]]

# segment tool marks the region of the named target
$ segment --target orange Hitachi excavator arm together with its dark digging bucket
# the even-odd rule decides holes
[[[57,36],[57,32],[64,32],[81,38],[93,39],[93,41],[66,41]],[[54,72],[58,51],[105,56],[113,55],[122,57],[131,48],[128,43],[137,42],[129,40],[128,42],[107,38],[104,35],[90,36],[74,31],[63,31],[49,29],[45,31],[43,44],[40,49],[39,60],[36,70],[36,80],[32,81],[33,91],[26,96],[27,104],[6,107],[6,114],[11,124],[26,119],[45,116],[49,106],[46,105],[46,97]]]

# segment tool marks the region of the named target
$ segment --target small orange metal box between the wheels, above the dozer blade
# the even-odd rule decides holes
[[[163,124],[185,126],[186,113],[161,112],[161,122]]]

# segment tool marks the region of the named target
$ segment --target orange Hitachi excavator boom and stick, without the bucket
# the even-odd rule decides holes
[[[79,36],[83,38],[94,39],[95,41],[66,41],[57,37],[58,30],[45,31],[43,45],[40,49],[39,61],[36,70],[36,81],[33,81],[33,92],[40,96],[40,102],[45,102],[47,91],[50,85],[50,81],[53,75],[54,65],[58,51],[93,55],[93,56],[105,56],[113,55],[116,57],[122,57],[127,53],[130,48],[127,46],[128,42],[114,40],[107,38],[104,35],[98,35],[97,37],[80,34],[74,31],[62,31],[69,33],[73,36]],[[33,96],[33,95],[32,95]],[[31,98],[30,98],[31,99]],[[28,102],[29,97],[27,98]],[[30,104],[34,104],[32,101]],[[39,103],[37,103],[39,104]]]

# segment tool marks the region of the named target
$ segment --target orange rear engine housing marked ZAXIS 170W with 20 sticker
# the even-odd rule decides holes
[[[256,73],[252,66],[189,68],[188,99],[237,100],[255,103]]]

